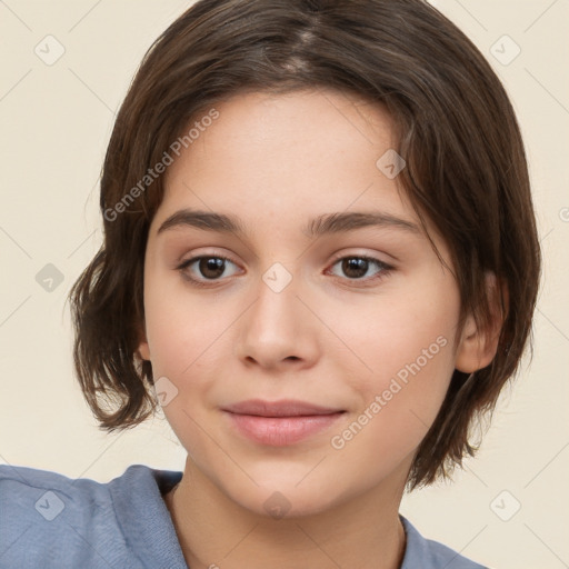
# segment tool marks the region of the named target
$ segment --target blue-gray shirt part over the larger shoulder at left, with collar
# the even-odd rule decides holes
[[[101,483],[0,465],[0,568],[141,567],[129,552],[114,497],[151,485],[158,493],[152,472],[133,465]]]

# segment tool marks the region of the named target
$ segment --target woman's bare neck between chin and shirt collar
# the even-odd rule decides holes
[[[385,482],[323,512],[274,519],[236,503],[188,458],[164,500],[191,569],[399,569],[405,479]]]

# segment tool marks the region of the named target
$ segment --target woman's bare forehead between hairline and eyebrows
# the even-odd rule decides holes
[[[355,200],[371,206],[378,194],[387,206],[389,194],[401,209],[397,180],[377,164],[396,146],[381,106],[326,90],[244,93],[214,110],[207,127],[199,128],[199,113],[193,117],[190,127],[199,136],[168,168],[164,202],[207,193],[229,210],[295,204],[316,214],[325,202],[346,210]]]

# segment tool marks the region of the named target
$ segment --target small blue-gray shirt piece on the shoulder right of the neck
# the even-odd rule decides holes
[[[438,541],[423,538],[408,519],[399,517],[407,535],[401,569],[488,569]]]

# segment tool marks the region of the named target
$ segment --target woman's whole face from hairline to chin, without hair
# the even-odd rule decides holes
[[[196,472],[258,513],[321,512],[405,480],[468,367],[459,291],[381,108],[307,91],[216,110],[166,173],[139,351]]]

